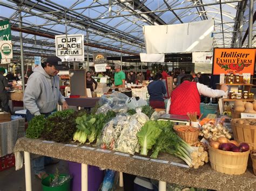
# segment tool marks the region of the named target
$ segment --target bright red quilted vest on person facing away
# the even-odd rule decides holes
[[[172,91],[170,114],[187,115],[187,112],[197,112],[200,115],[197,82],[184,81]]]

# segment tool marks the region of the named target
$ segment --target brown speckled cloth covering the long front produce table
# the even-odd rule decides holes
[[[171,165],[171,161],[182,162],[178,158],[165,153],[160,154],[159,159],[168,160],[168,164],[135,159],[132,158],[132,155],[125,157],[114,154],[115,151],[104,153],[96,150],[87,150],[81,148],[81,146],[70,147],[61,143],[43,143],[42,139],[20,138],[17,140],[14,151],[16,153],[26,151],[46,155],[197,188],[215,190],[255,190],[256,188],[256,178],[252,169],[247,170],[242,175],[227,175],[213,171],[208,164],[199,169]]]

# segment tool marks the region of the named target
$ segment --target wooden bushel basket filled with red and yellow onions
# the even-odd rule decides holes
[[[225,174],[243,174],[247,168],[250,146],[225,137],[211,141],[208,147],[211,167]]]

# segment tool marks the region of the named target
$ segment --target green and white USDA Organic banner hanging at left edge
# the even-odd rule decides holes
[[[7,42],[2,43],[2,41],[8,41],[8,43]],[[9,20],[0,21],[0,43],[1,43],[0,48],[2,53],[2,56],[0,54],[0,59],[12,58],[11,26],[9,24]],[[4,45],[4,44],[7,44],[7,45]]]

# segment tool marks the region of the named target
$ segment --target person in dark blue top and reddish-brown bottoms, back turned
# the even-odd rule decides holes
[[[157,73],[154,77],[154,81],[150,82],[149,86],[147,86],[147,91],[150,95],[150,106],[153,109],[165,109],[163,95],[166,94],[166,88],[161,79],[162,75],[160,73]]]

